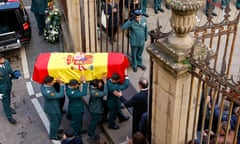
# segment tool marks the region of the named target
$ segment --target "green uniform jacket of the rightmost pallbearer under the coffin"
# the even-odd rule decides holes
[[[121,106],[121,100],[119,97],[115,96],[113,94],[113,91],[115,90],[125,90],[128,88],[129,85],[129,79],[125,79],[123,84],[120,83],[113,83],[111,79],[107,81],[108,85],[108,99],[107,99],[107,105],[109,108],[114,107],[120,107]]]

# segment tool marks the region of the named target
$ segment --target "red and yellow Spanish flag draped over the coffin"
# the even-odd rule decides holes
[[[87,81],[108,78],[118,73],[124,79],[129,66],[128,58],[122,53],[41,53],[35,62],[32,79],[40,84],[47,75],[60,78],[64,83],[85,76]]]

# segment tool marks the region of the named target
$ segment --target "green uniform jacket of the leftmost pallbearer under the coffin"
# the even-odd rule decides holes
[[[64,85],[60,85],[60,91],[56,92],[54,87],[41,85],[41,92],[44,98],[44,111],[47,114],[61,114],[59,98],[64,97]]]

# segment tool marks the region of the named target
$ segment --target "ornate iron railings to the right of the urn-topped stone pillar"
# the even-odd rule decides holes
[[[234,144],[240,139],[240,81],[237,79],[240,65],[233,59],[237,52],[235,40],[239,16],[230,20],[228,5],[221,22],[214,23],[210,16],[203,26],[193,30],[195,38],[208,50],[203,59],[194,58],[194,49],[189,57],[192,88],[188,111],[192,107],[191,101],[195,103],[192,143],[196,138],[199,143]],[[188,115],[188,123],[189,119]]]

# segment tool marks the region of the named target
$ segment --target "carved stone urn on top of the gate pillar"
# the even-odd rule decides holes
[[[196,24],[196,13],[205,0],[168,0],[167,3],[172,10],[170,23],[174,30],[168,41],[176,49],[186,51],[193,46],[190,32]]]

